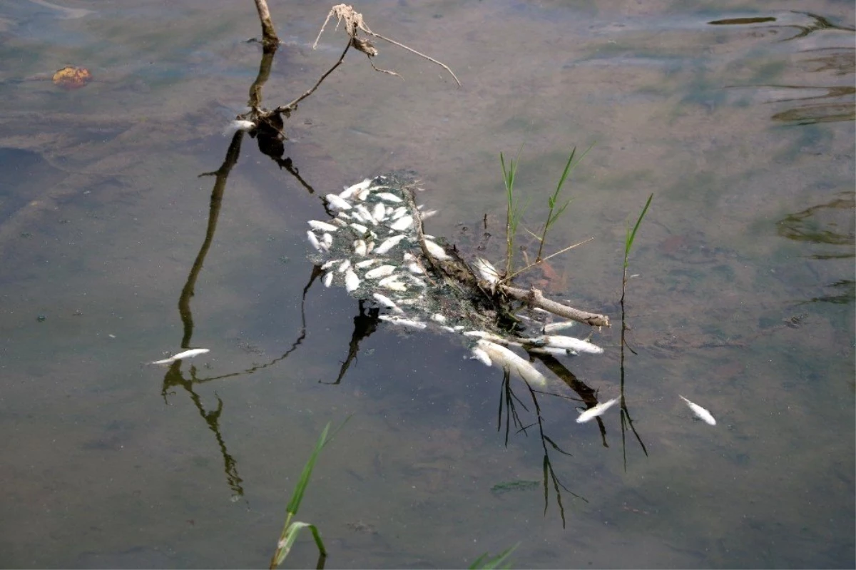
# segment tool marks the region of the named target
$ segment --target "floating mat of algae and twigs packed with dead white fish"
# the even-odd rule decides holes
[[[422,221],[430,212],[424,213],[416,205],[411,179],[395,174],[366,179],[342,193],[328,194],[326,201],[332,218],[309,223],[309,241],[315,249],[309,257],[325,272],[324,285],[341,286],[343,281],[354,297],[395,313],[382,313],[381,320],[415,330],[462,335],[473,359],[514,373],[539,388],[546,385],[546,377],[515,351],[553,356],[603,353],[588,341],[553,334],[526,336],[515,330],[514,312],[531,315],[527,317],[529,329],[544,333],[568,326],[544,324],[551,315],[574,316],[532,312],[539,303],[520,298],[529,292],[502,295],[506,282],[487,259],[476,258],[471,269],[457,250],[425,235]],[[336,271],[337,275],[344,272],[343,280],[331,276]],[[536,289],[532,291],[540,295]],[[602,315],[585,315],[600,318],[589,324],[609,324]]]

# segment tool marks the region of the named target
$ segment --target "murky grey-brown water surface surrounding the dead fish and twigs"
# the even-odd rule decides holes
[[[265,567],[315,438],[352,414],[299,517],[327,567],[467,567],[514,543],[526,568],[852,564],[847,3],[364,3],[375,32],[463,86],[389,45],[375,61],[401,78],[349,54],[288,125],[299,177],[244,137],[217,187],[199,175],[224,163],[259,66],[240,4],[0,8],[3,567]],[[309,49],[317,3],[272,10],[287,45],[270,105],[343,47]],[[56,88],[68,64],[95,80]],[[568,151],[592,143],[550,247],[594,240],[532,278],[617,320],[625,226],[655,194],[627,290],[636,434],[543,397],[544,434],[572,456],[537,425],[506,445],[501,374],[383,324],[327,384],[366,318],[318,281],[301,302],[318,193],[415,169],[440,208],[429,231],[467,239],[462,225],[504,216],[498,154],[524,144],[537,227]],[[620,389],[619,332],[595,335],[603,357],[562,362],[601,399]],[[181,346],[211,353],[140,365]],[[527,483],[545,448],[564,527],[552,482],[546,514]],[[315,563],[308,537],[289,562]]]

